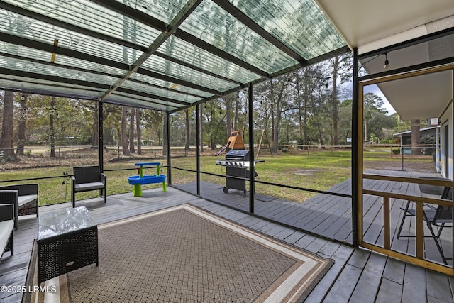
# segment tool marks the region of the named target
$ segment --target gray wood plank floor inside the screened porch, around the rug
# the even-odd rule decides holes
[[[238,199],[240,196],[233,197]],[[131,193],[109,196],[107,204],[101,199],[91,199],[78,202],[77,205],[87,206],[96,221],[102,224],[184,203],[199,206],[253,230],[335,260],[333,267],[309,294],[306,302],[453,302],[453,277],[368,250],[318,238],[214,204],[176,188],[169,187],[166,193],[162,189],[146,190],[141,198],[132,197]],[[70,203],[43,206],[40,214],[70,207]],[[0,262],[0,285],[24,285],[36,233],[37,219],[33,216],[21,217],[19,229],[14,233],[15,253],[12,257],[5,253]],[[22,294],[0,293],[0,302],[21,302],[21,297]]]

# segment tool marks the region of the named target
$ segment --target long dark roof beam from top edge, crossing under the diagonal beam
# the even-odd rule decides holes
[[[129,18],[132,18],[135,21],[139,21],[140,23],[144,23],[148,26],[151,26],[157,29],[158,31],[167,31],[166,23],[158,20],[157,18],[153,18],[147,13],[143,13],[138,9],[133,9],[131,6],[127,6],[126,4],[121,4],[118,1],[111,0],[91,0],[91,1],[101,6],[104,6],[107,9],[111,9],[112,11],[116,11],[117,13],[121,13],[125,16],[128,16]],[[209,53],[221,57],[223,60],[232,62],[240,67],[245,68],[246,70],[249,70],[250,72],[254,72],[257,75],[260,75],[261,77],[265,78],[270,77],[270,74],[265,72],[264,70],[261,70],[260,68],[255,67],[254,65],[251,65],[250,63],[245,62],[239,59],[238,57],[235,57],[219,48],[216,48],[215,46],[206,43],[204,40],[201,40],[200,38],[196,38],[194,35],[191,35],[190,33],[183,31],[182,29],[176,31],[175,33],[173,33],[173,35],[175,35],[175,37],[177,38],[180,38],[182,40],[185,40],[186,42],[191,43],[192,45],[195,45],[198,48],[201,48]]]

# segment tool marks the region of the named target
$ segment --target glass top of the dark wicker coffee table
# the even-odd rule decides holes
[[[85,206],[52,211],[38,217],[38,240],[96,226]]]

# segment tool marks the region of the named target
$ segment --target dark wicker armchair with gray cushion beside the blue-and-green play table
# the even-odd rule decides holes
[[[107,177],[99,171],[99,166],[73,167],[72,175],[72,207],[76,207],[76,192],[89,192],[99,190],[99,197],[104,197],[107,202],[106,182]]]

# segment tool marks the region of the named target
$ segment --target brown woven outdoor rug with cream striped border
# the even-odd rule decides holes
[[[301,302],[333,264],[188,204],[99,226],[55,302]],[[44,284],[43,284],[44,285]],[[69,296],[69,297],[68,297]]]

